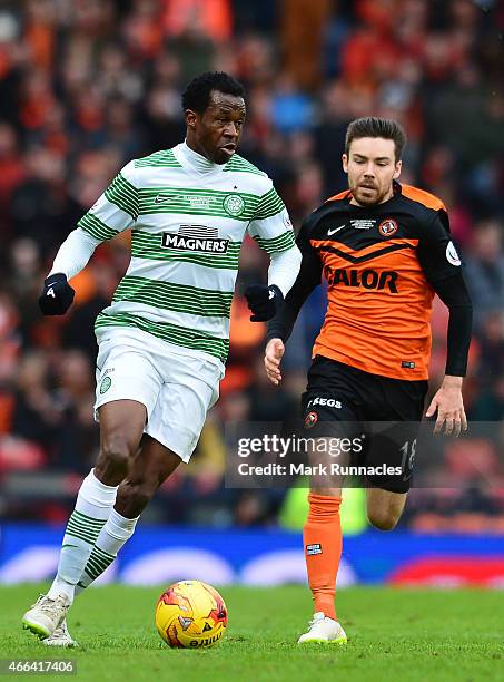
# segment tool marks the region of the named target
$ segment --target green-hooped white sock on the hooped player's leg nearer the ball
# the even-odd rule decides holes
[[[86,568],[80,576],[76,594],[80,594],[82,590],[88,587],[110,566],[119,549],[135,533],[135,526],[139,518],[139,516],[126,518],[126,516],[122,516],[116,509],[111,509],[110,516],[101,528]]]

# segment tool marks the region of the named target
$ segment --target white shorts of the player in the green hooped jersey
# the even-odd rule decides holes
[[[147,409],[144,431],[188,462],[224,371],[184,350],[134,328],[101,329],[95,419],[106,402],[137,400]]]

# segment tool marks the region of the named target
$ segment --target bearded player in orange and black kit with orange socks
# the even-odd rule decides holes
[[[328,305],[303,396],[305,435],[327,435],[328,425],[334,432],[339,425],[346,436],[365,432],[368,422],[389,425],[385,435],[367,439],[360,457],[366,466],[376,465],[375,471],[379,465],[395,467],[392,475],[370,474],[365,481],[368,518],[382,530],[397,524],[409,489],[435,294],[449,310],[447,360],[426,416],[437,411],[435,432],[458,436],[467,428],[462,381],[472,304],[443,202],[397,182],[405,143],[393,120],[369,117],[348,126],[343,167],[349,188],[304,222],[297,237],[302,267],[283,311],[268,325],[265,355],[266,372],[278,384],[284,344],[324,275]],[[316,483],[308,496],[304,545],[315,616],[299,643],[346,642],[334,604],[340,485],[340,479]]]

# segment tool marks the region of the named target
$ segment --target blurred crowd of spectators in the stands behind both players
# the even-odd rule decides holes
[[[100,246],[72,281],[71,312],[42,318],[37,298],[56,250],[123,164],[184,139],[181,90],[215,69],[246,86],[240,154],[274,179],[296,228],[346,187],[340,154],[353,118],[404,125],[402,179],[443,198],[466,263],[475,309],[467,416],[492,425],[446,445],[432,477],[443,487],[414,490],[403,523],[502,532],[503,33],[502,0],[1,2],[0,515],[65,522],[99,447],[92,327],[128,265],[128,235]],[[167,481],[147,519],[304,520],[288,513],[304,504],[297,491],[223,483],[224,426],[298,411],[325,313],[320,286],[289,341],[283,386],[270,386],[265,327],[249,323],[240,294],[265,281],[267,264],[247,241],[221,399],[191,464]],[[436,301],[432,391],[444,372],[446,319]]]

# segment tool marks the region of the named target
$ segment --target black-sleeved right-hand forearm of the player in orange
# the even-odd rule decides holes
[[[449,310],[446,343],[446,377],[465,377],[473,328],[473,305],[462,273],[435,285],[439,299]]]

